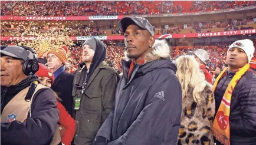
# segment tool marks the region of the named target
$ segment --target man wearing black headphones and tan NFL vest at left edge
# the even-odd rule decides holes
[[[1,143],[51,144],[58,122],[54,91],[38,84],[28,47],[1,50]]]

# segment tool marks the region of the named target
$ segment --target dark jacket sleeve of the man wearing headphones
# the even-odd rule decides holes
[[[54,92],[42,88],[34,95],[31,117],[23,123],[1,123],[2,144],[50,144],[57,128],[59,112]]]

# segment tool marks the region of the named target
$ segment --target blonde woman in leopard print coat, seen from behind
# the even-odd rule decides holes
[[[182,85],[182,116],[178,144],[214,144],[211,133],[215,114],[212,85],[192,55],[177,60],[176,75]]]

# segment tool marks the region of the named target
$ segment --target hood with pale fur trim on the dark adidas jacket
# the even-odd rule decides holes
[[[145,57],[145,64],[139,65],[139,69],[136,72],[137,75],[144,75],[147,72],[159,69],[159,68],[170,68],[175,73],[177,67],[172,60],[170,60],[170,48],[168,43],[163,40],[156,39],[155,44],[152,46],[152,51]],[[124,74],[127,74],[130,68],[132,60],[127,57],[127,52],[124,51],[124,58],[122,60]]]

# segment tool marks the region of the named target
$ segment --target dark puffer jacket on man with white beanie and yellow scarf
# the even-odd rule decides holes
[[[216,86],[214,93],[216,112],[234,75],[234,71],[227,71]],[[256,144],[256,74],[252,70],[245,72],[235,85],[231,97],[229,123],[232,145]]]

